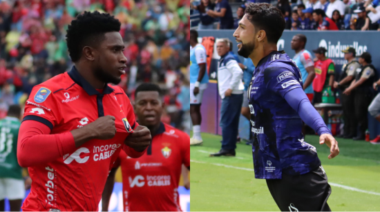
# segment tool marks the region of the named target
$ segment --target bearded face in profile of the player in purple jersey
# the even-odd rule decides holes
[[[234,32],[234,37],[238,43],[238,54],[248,58],[256,47],[256,33],[254,25],[247,19],[247,14],[239,21],[239,26]]]

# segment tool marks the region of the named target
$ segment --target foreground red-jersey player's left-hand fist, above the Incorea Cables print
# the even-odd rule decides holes
[[[86,127],[91,127],[95,132],[95,138],[100,140],[111,139],[116,134],[115,117],[109,115],[97,118]]]

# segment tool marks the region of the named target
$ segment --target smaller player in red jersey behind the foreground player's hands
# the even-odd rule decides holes
[[[102,197],[103,211],[113,191],[116,168],[122,167],[124,211],[181,211],[178,194],[182,164],[190,170],[190,137],[160,121],[164,103],[158,85],[144,83],[135,91],[135,112],[148,127],[152,144],[140,158],[120,152]]]

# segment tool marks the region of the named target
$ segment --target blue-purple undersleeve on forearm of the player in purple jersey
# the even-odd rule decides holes
[[[316,112],[316,109],[310,103],[303,89],[296,88],[287,92],[284,96],[287,103],[292,107],[306,125],[312,127],[317,134],[331,134],[330,129],[327,128],[321,115]]]

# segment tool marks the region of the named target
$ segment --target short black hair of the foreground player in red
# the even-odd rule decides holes
[[[97,45],[106,32],[119,32],[120,21],[108,13],[84,12],[68,25],[66,41],[71,61],[76,62],[86,45]]]

